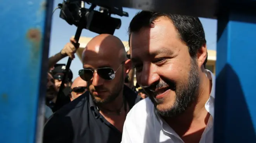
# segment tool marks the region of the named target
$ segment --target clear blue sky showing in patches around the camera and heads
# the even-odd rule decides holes
[[[57,7],[58,3],[62,3],[62,0],[54,0],[54,6]],[[133,18],[133,16],[139,12],[137,9],[128,9],[123,8],[125,12],[128,12],[129,17],[119,17],[113,15],[112,17],[118,17],[122,21],[121,28],[116,30],[114,35],[119,37],[122,41],[128,41],[127,29],[129,22]],[[55,10],[52,17],[52,31],[51,31],[51,39],[50,39],[50,53],[49,56],[52,56],[61,51],[61,49],[65,46],[71,36],[74,36],[76,32],[76,26],[70,26],[67,22],[61,18],[59,18],[60,10]],[[216,50],[216,33],[217,33],[217,20],[215,19],[205,19],[200,18],[202,25],[204,27],[204,31],[206,34],[206,41],[208,49]],[[86,37],[94,37],[98,34],[90,32],[86,29],[83,30],[81,36]],[[67,63],[67,58],[62,59],[58,63]],[[73,80],[78,77],[78,70],[82,68],[82,63],[79,58],[76,58],[71,63],[71,70],[73,72]]]

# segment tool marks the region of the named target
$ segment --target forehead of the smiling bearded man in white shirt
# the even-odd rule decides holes
[[[171,55],[177,48],[177,39],[179,37],[171,21],[161,17],[154,27],[144,27],[139,32],[131,33],[131,58]]]

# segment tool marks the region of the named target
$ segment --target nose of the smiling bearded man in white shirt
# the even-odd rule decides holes
[[[149,87],[159,80],[160,77],[157,74],[156,65],[148,64],[143,66],[142,72],[138,78],[138,83],[140,83],[142,87]]]

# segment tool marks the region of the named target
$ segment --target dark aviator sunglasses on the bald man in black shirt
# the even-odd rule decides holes
[[[118,69],[125,63],[123,61]],[[93,74],[97,72],[97,74],[103,78],[104,80],[112,80],[116,77],[116,72],[112,68],[97,68],[97,69],[83,69],[78,71],[78,75],[85,81],[89,81],[93,78]]]

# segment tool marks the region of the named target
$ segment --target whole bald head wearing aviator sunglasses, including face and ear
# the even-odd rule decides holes
[[[90,78],[87,89],[94,102],[110,103],[123,97],[125,75],[131,69],[131,61],[118,37],[109,34],[94,37],[86,45],[82,60],[84,70],[80,75]]]

